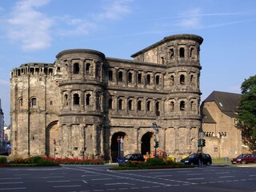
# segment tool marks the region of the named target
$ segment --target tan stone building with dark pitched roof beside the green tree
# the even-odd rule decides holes
[[[213,158],[234,158],[248,151],[236,126],[240,98],[241,94],[213,91],[202,102],[203,152]]]

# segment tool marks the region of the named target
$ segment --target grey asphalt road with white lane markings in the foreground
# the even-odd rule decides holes
[[[109,167],[1,167],[0,191],[256,192],[256,167],[126,171],[110,171]]]

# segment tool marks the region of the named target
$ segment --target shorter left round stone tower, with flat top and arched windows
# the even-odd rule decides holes
[[[67,156],[100,154],[105,55],[96,50],[64,50],[56,58],[56,76],[62,79],[59,150]]]

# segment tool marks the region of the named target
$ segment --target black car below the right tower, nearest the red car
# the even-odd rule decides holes
[[[190,156],[183,158],[181,162],[184,162],[186,165],[198,165],[199,164],[199,154],[190,154]],[[210,154],[202,154],[202,164],[210,166],[212,163]]]

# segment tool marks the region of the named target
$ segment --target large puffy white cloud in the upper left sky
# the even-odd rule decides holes
[[[14,42],[22,45],[22,50],[42,50],[50,46],[51,18],[36,10],[45,6],[49,0],[22,0],[16,3],[7,20],[7,35]]]

